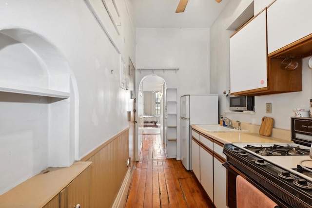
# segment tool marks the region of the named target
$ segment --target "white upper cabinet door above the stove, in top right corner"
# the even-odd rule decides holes
[[[267,9],[268,54],[312,33],[312,0],[276,0]]]

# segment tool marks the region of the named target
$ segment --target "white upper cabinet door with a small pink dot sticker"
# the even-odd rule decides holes
[[[231,93],[267,88],[266,10],[230,39]]]

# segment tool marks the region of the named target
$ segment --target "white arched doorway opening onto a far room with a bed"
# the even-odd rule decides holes
[[[142,149],[142,135],[144,128],[144,118],[145,122],[148,122],[148,119],[155,120],[160,123],[160,136],[163,143],[165,144],[166,140],[166,91],[167,84],[164,78],[157,75],[147,75],[144,76],[138,87],[138,133],[137,133],[137,145],[136,145],[136,160],[139,159],[140,151]],[[151,102],[147,104],[144,103],[144,94],[145,96],[151,96]],[[158,100],[156,98],[158,95]],[[159,104],[159,105],[158,105]],[[144,112],[145,109],[145,112]],[[150,116],[150,117],[147,117]]]

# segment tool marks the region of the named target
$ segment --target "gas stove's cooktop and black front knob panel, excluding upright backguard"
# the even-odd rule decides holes
[[[308,171],[312,169],[310,156],[306,153],[299,155],[273,154],[274,156],[269,153],[264,156],[256,152],[264,148],[271,151],[279,146],[288,149],[291,146],[295,151],[299,150],[300,152],[310,151],[310,147],[307,146],[299,145],[299,149],[295,148],[298,145],[294,143],[225,144],[223,148],[223,153],[227,156],[225,167],[234,167],[234,170],[245,175],[254,183],[254,186],[277,200],[277,204],[282,208],[312,208],[312,172]],[[309,161],[302,163],[304,160]],[[303,169],[300,164],[308,170]]]

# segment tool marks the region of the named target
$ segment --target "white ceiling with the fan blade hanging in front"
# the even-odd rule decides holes
[[[229,0],[189,0],[182,13],[176,13],[179,0],[132,0],[136,27],[211,27]]]

